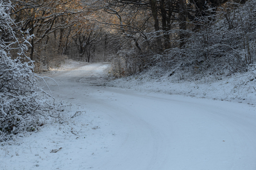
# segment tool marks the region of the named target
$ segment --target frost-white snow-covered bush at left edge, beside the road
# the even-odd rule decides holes
[[[33,61],[26,56],[32,37],[18,30],[11,9],[9,1],[0,1],[0,142],[36,131],[42,118],[57,109],[36,83]]]

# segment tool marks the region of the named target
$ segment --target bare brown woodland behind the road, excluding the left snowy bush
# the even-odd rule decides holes
[[[33,35],[35,71],[63,56],[111,61],[116,76],[153,65],[221,74],[253,64],[254,1],[11,2],[17,29]]]

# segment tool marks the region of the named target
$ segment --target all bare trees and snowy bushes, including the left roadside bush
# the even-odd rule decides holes
[[[1,1],[0,140],[35,130],[33,117],[58,110],[47,102],[50,94],[38,98],[43,91],[34,72],[65,58],[109,61],[115,77],[152,67],[186,71],[191,79],[248,71],[255,63],[255,5],[254,0]]]

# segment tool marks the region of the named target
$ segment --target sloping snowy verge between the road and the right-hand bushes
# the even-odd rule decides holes
[[[151,70],[148,73],[129,76],[110,81],[107,86],[134,89],[140,92],[160,92],[164,94],[185,95],[213,100],[256,103],[256,68],[244,74],[209,76],[200,80],[180,80],[180,73],[169,76],[172,72],[161,73]]]

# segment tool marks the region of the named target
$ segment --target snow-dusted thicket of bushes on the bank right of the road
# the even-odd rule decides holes
[[[255,0],[225,4],[214,20],[201,22],[198,29],[186,30],[183,48],[174,47],[155,55],[152,64],[173,71],[179,69],[187,78],[195,79],[247,71],[256,59],[255,6]],[[177,32],[179,30],[169,33]]]

